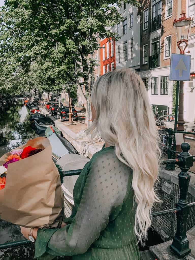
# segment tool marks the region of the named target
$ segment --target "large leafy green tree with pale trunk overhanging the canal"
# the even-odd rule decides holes
[[[87,108],[91,103],[95,61],[89,65],[88,57],[100,48],[97,37],[118,40],[108,28],[122,21],[117,6],[123,2],[139,5],[136,0],[5,0],[0,54],[1,66],[8,70],[2,73],[3,82],[9,82],[8,71],[9,76],[13,75],[18,67],[28,76],[32,62],[36,62],[43,89],[56,86],[60,91],[62,82],[77,85],[86,101],[89,119],[91,113]],[[84,78],[89,98],[81,89],[79,77]]]

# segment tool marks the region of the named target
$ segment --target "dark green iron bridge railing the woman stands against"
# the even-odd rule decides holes
[[[170,145],[171,145],[171,138],[173,138],[172,136],[173,133],[171,132],[171,130],[172,129],[169,129]],[[176,132],[181,132],[181,131],[176,131]],[[173,158],[173,159],[161,161],[162,164],[166,164],[166,165],[177,164],[181,169],[181,172],[178,175],[179,191],[180,191],[179,201],[178,203],[176,203],[176,207],[174,209],[159,211],[152,214],[153,217],[157,217],[157,216],[176,213],[177,232],[173,238],[172,244],[170,245],[170,249],[175,255],[179,257],[188,255],[191,252],[191,249],[189,248],[189,241],[186,236],[186,228],[187,228],[187,217],[189,215],[190,208],[195,206],[195,202],[192,202],[190,204],[187,203],[187,192],[190,183],[190,174],[188,171],[190,170],[190,167],[193,165],[193,161],[195,161],[195,157],[190,155],[189,153],[190,145],[188,143],[181,144],[181,149],[182,152],[177,156],[177,159]],[[82,171],[82,169],[72,170],[72,171],[62,171],[59,165],[56,166],[60,174],[61,183],[63,183],[63,177],[79,175]],[[27,239],[16,241],[16,242],[4,243],[4,244],[0,244],[0,250],[6,248],[12,248],[20,245],[28,245],[30,243],[31,242]]]

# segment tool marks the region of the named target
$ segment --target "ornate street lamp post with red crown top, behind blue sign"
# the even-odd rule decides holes
[[[188,44],[188,38],[190,35],[191,25],[193,22],[193,18],[187,18],[184,11],[181,13],[181,17],[178,20],[173,21],[173,27],[175,29],[175,33],[177,35],[177,47],[180,50],[180,54],[185,54],[185,49]],[[190,51],[187,51],[190,53]],[[179,115],[178,115],[178,127],[177,130],[184,131],[184,82],[180,81],[179,84]],[[176,97],[177,99],[177,97]],[[177,104],[177,102],[176,102]],[[177,109],[176,109],[177,110]],[[177,120],[177,115],[175,117]]]

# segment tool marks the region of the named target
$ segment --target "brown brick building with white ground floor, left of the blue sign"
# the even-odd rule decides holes
[[[144,0],[140,17],[140,75],[152,105],[172,107],[169,81],[171,53],[179,53],[173,20],[181,13],[180,0]],[[171,111],[171,109],[170,109]]]

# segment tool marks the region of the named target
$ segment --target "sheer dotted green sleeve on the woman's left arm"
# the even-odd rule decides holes
[[[110,213],[116,207],[122,207],[129,177],[129,170],[120,171],[122,164],[113,153],[93,160],[72,223],[53,231],[39,230],[36,257],[45,252],[54,256],[72,256],[88,250],[106,228]]]

